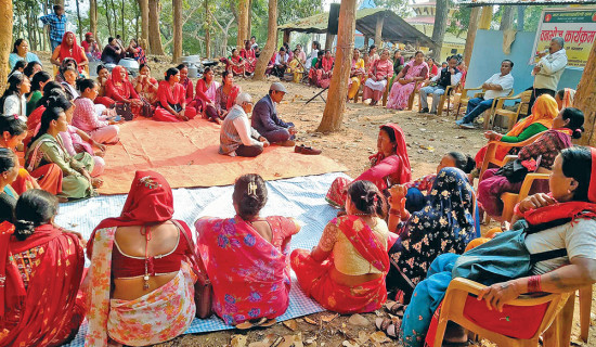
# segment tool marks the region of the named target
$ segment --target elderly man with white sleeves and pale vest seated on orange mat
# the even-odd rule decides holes
[[[239,93],[236,104],[230,110],[221,125],[219,154],[255,157],[263,152],[269,142],[250,127],[248,113],[252,111],[252,98]]]

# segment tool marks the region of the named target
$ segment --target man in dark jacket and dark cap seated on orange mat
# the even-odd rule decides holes
[[[269,94],[263,97],[255,105],[252,111],[252,128],[263,136],[269,142],[283,146],[294,146],[296,128],[291,123],[285,123],[277,116],[275,104],[284,99],[287,92],[284,85],[271,83]]]

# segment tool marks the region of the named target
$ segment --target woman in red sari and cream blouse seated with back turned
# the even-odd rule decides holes
[[[307,295],[339,313],[372,312],[387,300],[389,271],[385,197],[371,182],[348,188],[347,216],[333,219],[312,252],[291,253],[291,268]]]

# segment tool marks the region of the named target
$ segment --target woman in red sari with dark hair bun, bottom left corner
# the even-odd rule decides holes
[[[79,236],[53,223],[57,200],[42,190],[16,203],[14,227],[0,223],[1,346],[61,346],[85,318]]]

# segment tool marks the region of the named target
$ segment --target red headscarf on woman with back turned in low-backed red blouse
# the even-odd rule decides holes
[[[100,229],[157,224],[172,216],[173,195],[168,181],[155,171],[137,171],[120,217],[104,219],[95,227],[87,244],[87,256],[91,259],[93,240]]]

